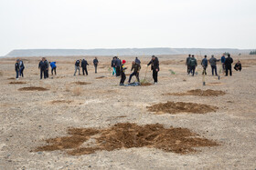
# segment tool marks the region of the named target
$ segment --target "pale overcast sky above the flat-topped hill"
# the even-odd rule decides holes
[[[31,48],[256,48],[256,0],[0,0],[0,55]]]

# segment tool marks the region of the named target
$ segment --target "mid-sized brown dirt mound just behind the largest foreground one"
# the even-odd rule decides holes
[[[212,105],[183,103],[183,102],[167,102],[165,104],[156,104],[147,106],[148,110],[157,114],[178,114],[178,113],[194,113],[206,114],[208,112],[216,112],[218,107]]]

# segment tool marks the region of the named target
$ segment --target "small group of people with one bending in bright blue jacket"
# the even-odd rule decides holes
[[[42,60],[38,64],[38,69],[40,69],[40,79],[43,78],[43,75],[45,79],[48,78],[49,66],[51,67],[51,75],[53,75],[53,72],[56,75],[56,69],[57,69],[56,62],[48,62],[46,57],[42,57]]]

